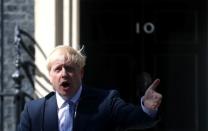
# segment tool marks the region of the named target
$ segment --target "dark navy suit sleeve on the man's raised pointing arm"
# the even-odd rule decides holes
[[[157,118],[147,115],[139,105],[126,103],[115,90],[110,92],[112,116],[122,128],[147,129],[156,125]]]

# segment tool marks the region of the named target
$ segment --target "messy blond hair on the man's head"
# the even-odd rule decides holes
[[[64,55],[66,60],[70,60],[72,63],[77,64],[80,68],[83,68],[86,64],[86,56],[82,53],[84,46],[76,50],[68,45],[59,45],[57,46],[47,58],[47,69],[51,70],[51,64],[54,57],[54,54],[58,51]]]

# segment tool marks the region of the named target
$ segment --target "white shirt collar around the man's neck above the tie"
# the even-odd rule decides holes
[[[82,85],[80,86],[76,94],[70,99],[70,101],[72,101],[73,103],[77,103],[80,98],[81,92],[82,92]],[[66,100],[56,91],[56,101],[58,108],[60,109],[64,105]]]

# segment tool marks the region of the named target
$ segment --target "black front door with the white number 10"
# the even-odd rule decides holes
[[[136,103],[145,88],[143,79],[160,78],[162,119],[151,130],[204,131],[205,2],[81,1],[85,83],[116,88],[126,101]]]

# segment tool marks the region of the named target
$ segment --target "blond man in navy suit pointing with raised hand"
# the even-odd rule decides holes
[[[156,79],[142,97],[141,106],[124,102],[115,90],[82,84],[86,57],[70,46],[58,46],[47,59],[55,92],[30,101],[21,114],[19,131],[113,131],[117,127],[155,125],[162,95]],[[70,112],[72,111],[72,112]]]

